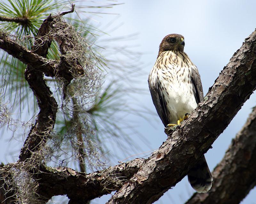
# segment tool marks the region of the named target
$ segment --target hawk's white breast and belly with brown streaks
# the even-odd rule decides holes
[[[197,71],[188,55],[180,51],[162,52],[151,69],[148,82],[159,83],[167,107],[169,123],[177,123],[186,113],[192,113],[197,103],[193,96],[191,72]]]

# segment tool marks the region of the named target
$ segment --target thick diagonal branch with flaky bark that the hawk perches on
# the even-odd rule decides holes
[[[153,203],[175,186],[228,126],[256,85],[256,31],[220,73],[196,111],[108,203]]]

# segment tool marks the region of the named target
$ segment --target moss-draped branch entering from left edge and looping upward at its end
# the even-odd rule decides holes
[[[60,15],[71,13],[74,8],[75,5],[72,4],[70,11],[63,12]],[[76,55],[67,58],[68,53],[70,51],[74,52],[74,45],[79,45],[79,42],[74,34],[76,32],[73,31],[73,35],[70,32],[72,26],[62,21],[60,15],[49,15],[44,20],[37,32],[31,51],[26,47],[20,46],[15,40],[12,40],[13,36],[7,35],[3,31],[0,31],[0,48],[21,62],[33,67],[33,69],[44,72],[46,76],[60,77],[70,83],[74,76],[83,75],[84,69]],[[62,33],[58,33],[60,30]],[[62,54],[60,62],[45,58],[53,39],[58,42],[60,47]]]

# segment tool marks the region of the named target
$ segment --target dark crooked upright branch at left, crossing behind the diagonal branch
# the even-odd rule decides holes
[[[34,46],[32,47],[32,52],[42,57],[46,57],[48,48],[51,45],[51,41],[49,40],[40,40],[40,37],[45,35],[48,28],[47,24],[46,26],[44,25],[45,22],[48,21],[48,18],[38,30]],[[38,43],[39,40],[42,42]],[[21,149],[19,157],[20,162],[31,158],[32,153],[40,150],[41,145],[45,144],[54,128],[58,108],[52,91],[50,91],[50,88],[45,83],[44,73],[28,65],[24,74],[29,87],[36,96],[40,112],[37,115],[35,125],[31,128],[23,148]]]

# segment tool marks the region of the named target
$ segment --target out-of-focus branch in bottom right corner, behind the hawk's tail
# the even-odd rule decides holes
[[[212,172],[214,182],[211,191],[195,193],[186,204],[240,203],[256,185],[255,135],[256,107]]]

